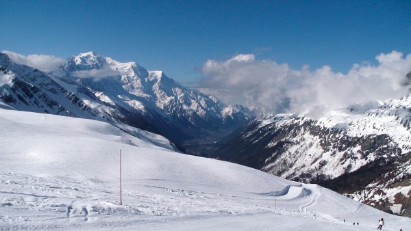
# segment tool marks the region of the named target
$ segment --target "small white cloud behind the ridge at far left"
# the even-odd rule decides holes
[[[66,59],[55,57],[53,55],[25,56],[12,51],[1,51],[1,53],[6,53],[10,59],[16,62],[16,64],[24,64],[45,72],[58,70],[60,66],[66,62]]]

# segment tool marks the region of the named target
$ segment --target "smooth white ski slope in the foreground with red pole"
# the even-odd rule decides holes
[[[95,120],[0,108],[0,160],[0,230],[375,230],[381,217],[386,230],[411,227],[317,185]]]

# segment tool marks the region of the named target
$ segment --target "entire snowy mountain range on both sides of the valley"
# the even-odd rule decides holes
[[[0,53],[0,105],[110,122],[147,139],[139,128],[170,141],[147,139],[157,146],[314,182],[411,217],[410,95],[321,118],[256,117],[134,62],[88,52],[50,72]]]

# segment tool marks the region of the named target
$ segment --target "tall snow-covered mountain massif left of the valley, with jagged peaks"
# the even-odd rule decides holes
[[[253,117],[238,105],[182,87],[161,71],[93,52],[42,72],[0,53],[0,99],[23,111],[123,123],[158,133],[191,154]]]

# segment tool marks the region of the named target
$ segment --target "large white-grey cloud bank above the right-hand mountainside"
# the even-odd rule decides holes
[[[294,70],[288,64],[236,55],[226,61],[208,60],[199,87],[227,103],[242,103],[266,113],[321,116],[353,103],[397,98],[408,93],[411,54],[393,51],[375,57],[378,64],[354,64],[347,74],[330,66]]]

